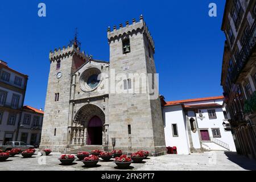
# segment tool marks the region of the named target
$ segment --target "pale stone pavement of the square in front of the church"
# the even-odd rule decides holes
[[[38,152],[36,152],[37,154]],[[60,153],[52,153],[49,156],[34,155],[32,158],[22,158],[17,155],[9,158],[6,162],[0,162],[0,170],[39,170],[39,171],[62,171],[62,170],[120,170],[112,162],[98,162],[96,167],[86,168],[84,164],[75,160],[71,166],[62,166],[58,160]],[[40,163],[46,164],[40,165]],[[204,152],[191,155],[164,155],[149,157],[140,164],[131,164],[127,170],[172,170],[172,171],[201,171],[201,170],[256,170],[255,160],[247,159],[244,156],[233,152]]]

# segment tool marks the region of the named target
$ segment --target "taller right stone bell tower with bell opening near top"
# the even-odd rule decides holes
[[[151,98],[149,92],[150,86],[157,84],[143,80],[143,76],[154,78],[156,73],[154,41],[143,16],[139,17],[139,22],[133,19],[131,24],[129,21],[125,26],[119,24],[118,29],[109,27],[108,41],[110,147],[114,144],[127,153],[148,150],[153,155],[162,155],[166,146],[159,94]],[[141,81],[137,79],[140,76]]]

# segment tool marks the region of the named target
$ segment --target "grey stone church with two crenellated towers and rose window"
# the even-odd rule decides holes
[[[143,16],[138,22],[133,19],[125,26],[109,27],[108,43],[109,62],[86,55],[76,38],[68,47],[49,53],[41,148],[62,152],[101,146],[105,151],[114,147],[125,154],[148,150],[152,155],[166,151],[159,96],[149,99],[148,92],[110,92],[111,80],[118,84],[120,74],[156,73],[154,41]],[[121,89],[134,90],[134,79],[125,78],[122,83]]]

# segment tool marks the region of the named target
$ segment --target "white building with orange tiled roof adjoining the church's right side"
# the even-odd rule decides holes
[[[236,151],[223,99],[162,100],[166,146],[176,146],[178,154]]]

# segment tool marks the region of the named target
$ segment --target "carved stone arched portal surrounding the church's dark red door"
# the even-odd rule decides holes
[[[100,107],[94,104],[82,106],[73,119],[71,142],[83,145],[105,144],[102,143],[105,138],[104,123],[105,113]]]

